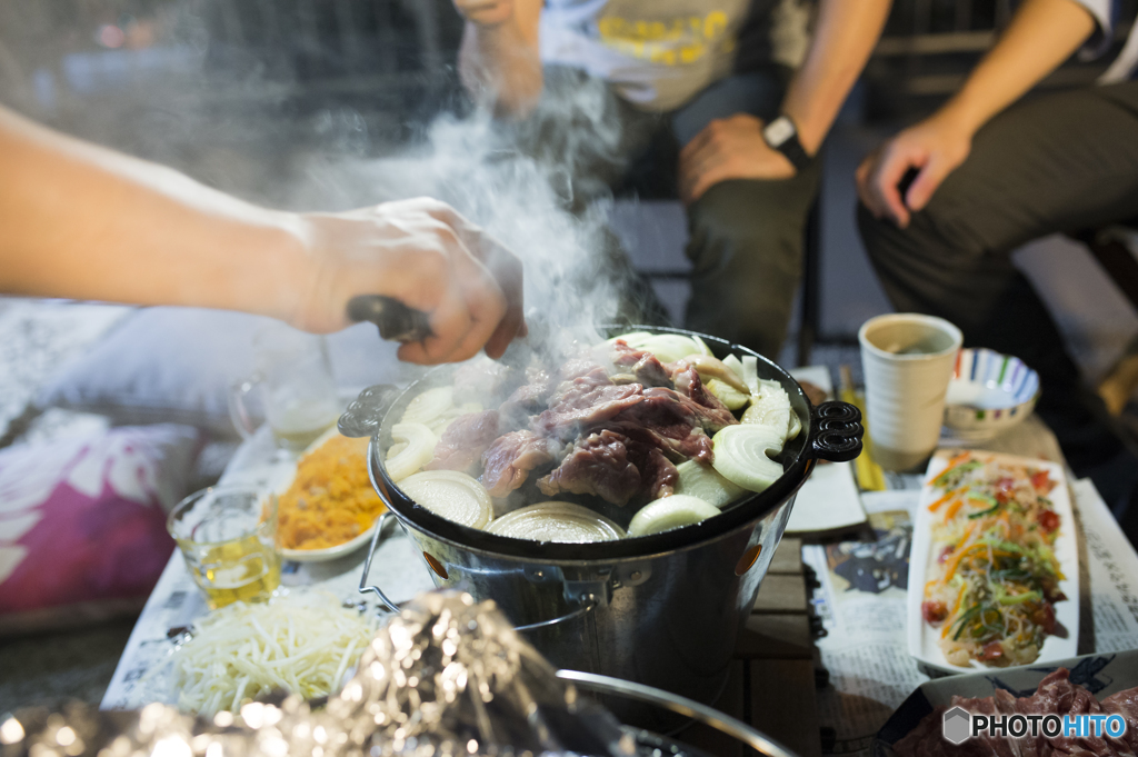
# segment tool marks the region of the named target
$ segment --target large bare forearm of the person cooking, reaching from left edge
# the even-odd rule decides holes
[[[0,289],[295,316],[295,216],[0,108]]]

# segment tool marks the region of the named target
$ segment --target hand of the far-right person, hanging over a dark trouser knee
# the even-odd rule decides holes
[[[912,214],[932,199],[941,182],[964,163],[972,149],[972,132],[943,115],[906,129],[861,161],[857,194],[874,216],[888,217],[902,229]],[[917,172],[901,197],[900,184],[909,170]]]

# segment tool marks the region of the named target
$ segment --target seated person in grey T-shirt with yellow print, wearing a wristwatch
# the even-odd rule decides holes
[[[592,148],[585,171],[616,166],[608,183],[640,157],[659,173],[661,155],[678,154],[668,191],[687,204],[685,326],[776,357],[817,191],[814,156],[889,5],[820,0],[791,75],[802,56],[775,60],[772,18],[805,15],[794,0],[455,0],[467,19],[460,73],[476,99],[530,122],[538,143],[528,149],[580,170],[577,151]],[[597,118],[567,117],[566,104],[599,82],[584,109],[612,116],[616,155],[604,155],[608,133],[580,132]]]

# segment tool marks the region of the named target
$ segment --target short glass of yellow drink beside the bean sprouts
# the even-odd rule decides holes
[[[211,609],[269,599],[281,582],[277,495],[214,486],[182,500],[166,519]]]

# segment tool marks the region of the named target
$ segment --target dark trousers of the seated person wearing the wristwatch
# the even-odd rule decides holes
[[[679,149],[715,118],[740,113],[775,117],[786,79],[775,68],[734,74],[677,110],[659,114],[636,110],[580,72],[547,68],[545,74],[543,101],[519,138],[523,149],[551,167],[572,166],[569,184],[578,209],[613,189],[675,197]],[[777,357],[817,184],[817,166],[781,181],[724,181],[687,208],[687,328]],[[632,281],[627,288],[637,301],[633,310],[659,320],[661,308],[627,270],[624,253],[613,257],[619,258],[615,269]]]

